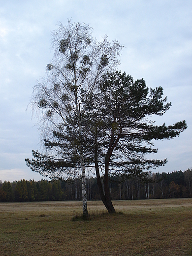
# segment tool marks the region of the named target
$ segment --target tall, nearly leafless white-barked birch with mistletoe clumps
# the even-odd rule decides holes
[[[97,41],[86,24],[60,23],[53,32],[54,57],[47,77],[34,87],[30,104],[39,120],[45,151],[32,151],[27,165],[50,178],[66,178],[81,168],[83,215],[87,215],[86,175],[89,152],[85,150],[84,115],[101,76],[119,64],[122,46],[105,36]]]

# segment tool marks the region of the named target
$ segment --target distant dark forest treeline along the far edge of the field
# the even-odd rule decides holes
[[[100,200],[96,178],[88,178],[87,199]],[[138,177],[111,177],[112,200],[192,197],[192,169],[152,173],[148,180]],[[81,179],[0,181],[0,202],[82,200]]]

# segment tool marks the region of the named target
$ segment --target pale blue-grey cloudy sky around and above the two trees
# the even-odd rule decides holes
[[[124,45],[119,69],[148,87],[163,87],[172,106],[157,125],[186,120],[171,140],[155,141],[153,157],[168,159],[154,172],[192,167],[192,0],[0,1],[0,180],[41,180],[26,166],[42,150],[37,120],[28,108],[33,86],[53,57],[51,32],[59,23],[90,24],[97,40]]]

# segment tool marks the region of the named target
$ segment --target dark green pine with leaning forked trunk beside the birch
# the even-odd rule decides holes
[[[144,79],[133,81],[121,71],[102,77],[85,122],[90,127],[90,150],[95,156],[101,199],[109,212],[115,212],[110,199],[109,175],[146,179],[150,169],[167,162],[149,158],[158,152],[154,140],[174,138],[187,128],[185,121],[156,126],[150,120],[152,115],[162,116],[170,108],[171,103],[166,101],[162,87],[149,89]],[[99,168],[104,174],[104,190]]]

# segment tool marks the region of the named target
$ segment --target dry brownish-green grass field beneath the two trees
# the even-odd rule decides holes
[[[72,221],[76,201],[0,203],[0,256],[190,256],[192,198],[88,201],[89,221]]]

